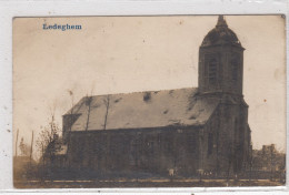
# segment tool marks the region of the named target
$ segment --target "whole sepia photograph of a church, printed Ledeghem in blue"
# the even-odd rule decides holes
[[[286,185],[285,16],[12,27],[16,188]]]

